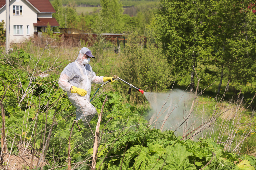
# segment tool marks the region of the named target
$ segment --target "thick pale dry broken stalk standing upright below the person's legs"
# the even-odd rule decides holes
[[[104,108],[104,105],[105,105],[105,102],[107,101],[107,99],[108,99],[108,96],[105,97],[105,100],[102,104],[102,108],[101,108],[101,111],[100,111],[99,119],[98,119],[96,130],[95,130],[95,140],[94,140],[94,145],[93,145],[93,150],[92,150],[93,155],[92,155],[91,170],[95,170],[95,166],[96,166],[97,153],[98,153],[98,148],[99,148],[98,141],[99,141],[100,122],[101,122],[101,116],[102,116],[102,113],[103,113],[103,108]]]

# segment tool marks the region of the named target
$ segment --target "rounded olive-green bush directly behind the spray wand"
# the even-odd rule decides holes
[[[147,91],[166,89],[173,79],[171,67],[166,56],[162,53],[161,44],[156,47],[147,43],[144,47],[144,38],[133,33],[127,38],[124,53],[121,54],[120,78]]]

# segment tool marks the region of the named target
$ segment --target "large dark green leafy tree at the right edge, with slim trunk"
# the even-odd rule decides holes
[[[247,82],[254,81],[256,71],[255,63],[251,62],[256,60],[253,45],[256,17],[252,10],[248,10],[250,1],[225,1],[225,4],[216,2],[212,5],[215,15],[211,16],[211,25],[206,30],[210,37],[208,46],[212,48],[212,55],[206,58],[206,62],[218,68],[218,93],[223,76],[237,83],[237,89],[243,87],[243,91],[248,91]]]

